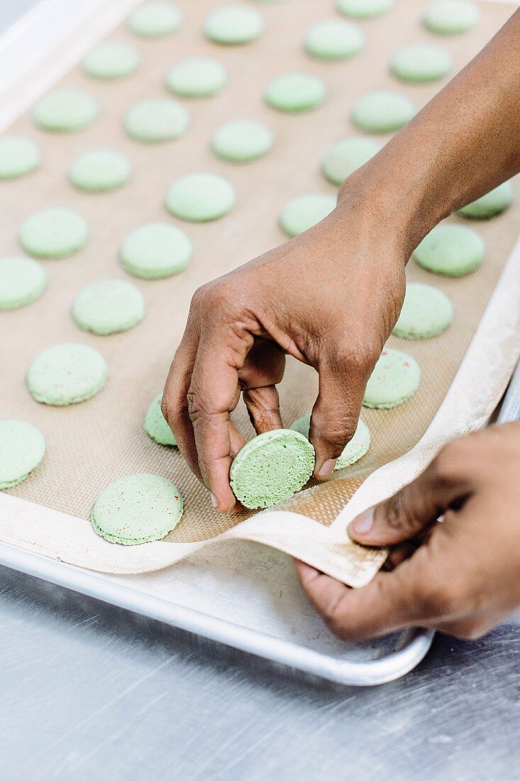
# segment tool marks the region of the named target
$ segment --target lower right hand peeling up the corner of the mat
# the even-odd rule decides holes
[[[516,612],[519,469],[520,423],[455,440],[416,480],[349,526],[358,543],[394,545],[394,569],[351,590],[297,562],[301,585],[333,633],[366,640],[424,626],[472,640]]]

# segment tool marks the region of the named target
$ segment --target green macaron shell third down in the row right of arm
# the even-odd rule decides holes
[[[443,333],[453,321],[453,306],[443,291],[422,282],[406,286],[403,308],[394,326],[401,339],[431,339]]]

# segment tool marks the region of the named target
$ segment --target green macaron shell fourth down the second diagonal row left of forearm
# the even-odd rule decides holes
[[[274,134],[255,119],[234,119],[221,125],[212,137],[212,151],[228,162],[251,162],[269,152]]]

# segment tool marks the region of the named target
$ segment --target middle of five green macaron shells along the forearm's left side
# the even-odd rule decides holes
[[[393,133],[415,116],[415,106],[399,92],[375,91],[354,103],[351,121],[367,133]]]

